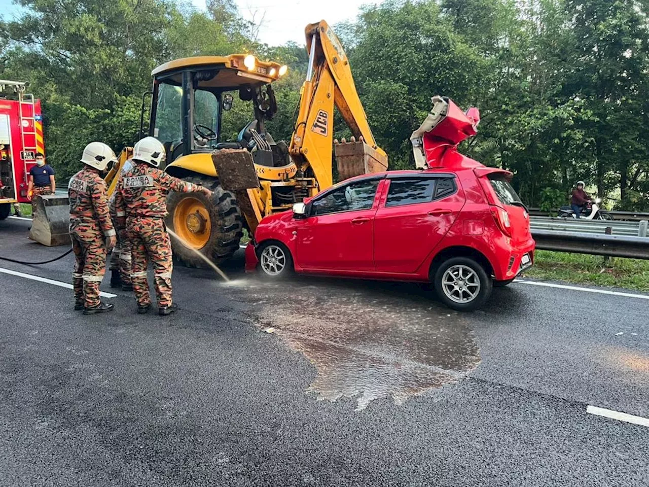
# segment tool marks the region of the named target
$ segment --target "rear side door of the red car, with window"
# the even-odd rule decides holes
[[[374,217],[376,271],[413,273],[447,234],[465,198],[452,174],[388,178],[386,201]]]

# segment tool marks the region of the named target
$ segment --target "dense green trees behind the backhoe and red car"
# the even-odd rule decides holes
[[[291,134],[306,52],[256,42],[232,0],[206,11],[171,0],[20,3],[27,14],[0,22],[0,78],[31,82],[64,175],[89,140],[134,142],[151,69],[181,56],[250,51],[288,63],[269,128]],[[444,94],[480,107],[479,134],[461,149],[515,172],[530,205],[557,206],[583,179],[618,208],[646,210],[648,12],[647,0],[389,0],[336,30],[392,168],[411,167],[408,138]],[[235,104],[224,133],[249,116]]]

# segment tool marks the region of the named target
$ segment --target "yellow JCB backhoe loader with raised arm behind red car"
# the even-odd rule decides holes
[[[306,27],[310,53],[306,81],[289,144],[275,142],[265,121],[276,112],[272,83],[286,66],[252,55],[201,56],[167,62],[153,71],[149,135],[167,149],[167,173],[201,182],[214,192],[171,194],[167,226],[209,260],[232,256],[246,228],[273,212],[332,185],[332,147],[341,179],[384,171],[387,155],[376,145],[354,86],[347,55],[326,22]],[[223,112],[234,97],[251,101],[252,121],[236,140],[223,140]],[[334,106],[353,134],[334,144]],[[130,154],[120,155],[123,162]],[[107,180],[112,192],[119,165]],[[203,261],[172,238],[174,254],[184,264]]]

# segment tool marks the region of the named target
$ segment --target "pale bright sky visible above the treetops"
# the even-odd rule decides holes
[[[259,23],[263,17],[259,41],[281,45],[288,41],[304,44],[304,27],[309,23],[326,20],[334,25],[353,20],[361,5],[376,0],[235,0],[241,16]],[[191,0],[197,8],[205,8],[205,0]],[[12,18],[20,7],[11,0],[0,0],[0,14]]]

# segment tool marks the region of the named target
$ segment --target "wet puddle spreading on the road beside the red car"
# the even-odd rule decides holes
[[[262,328],[274,327],[317,369],[307,392],[319,400],[408,397],[457,381],[480,363],[478,345],[461,315],[411,284],[255,278],[219,286],[252,305]]]

